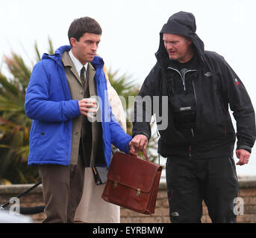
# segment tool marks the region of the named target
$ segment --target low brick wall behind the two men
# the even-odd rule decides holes
[[[256,179],[247,178],[240,179],[240,190],[238,197],[240,197],[240,202],[243,201],[244,206],[243,215],[237,216],[237,222],[253,222],[256,223]],[[11,197],[17,196],[22,193],[32,184],[18,184],[18,185],[0,185],[0,204],[8,202]],[[30,193],[22,196],[20,199],[20,204],[22,207],[31,207],[44,205],[43,195],[42,195],[42,185],[32,190]],[[240,204],[240,203],[237,203]],[[41,222],[44,218],[44,213],[39,213],[32,215],[31,218],[34,222]],[[154,214],[143,215],[136,213],[134,211],[121,208],[121,222],[124,223],[168,223],[169,222],[169,205],[166,193],[166,184],[162,183],[159,186],[157,193],[157,204]],[[202,222],[210,222],[210,218],[207,215],[207,208],[203,203],[203,216]]]

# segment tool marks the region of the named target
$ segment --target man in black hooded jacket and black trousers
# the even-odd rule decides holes
[[[228,106],[237,122],[237,164],[247,164],[256,135],[249,95],[224,58],[204,50],[192,13],[169,18],[160,31],[155,55],[157,63],[135,100],[131,147],[146,148],[151,137],[146,118],[156,114],[158,152],[167,158],[171,222],[201,222],[202,200],[212,222],[236,222],[236,135]],[[146,96],[152,105],[146,106]],[[155,96],[159,96],[157,106]],[[164,117],[168,124],[163,128]]]

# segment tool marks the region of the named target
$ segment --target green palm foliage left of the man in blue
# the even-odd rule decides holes
[[[40,52],[35,44],[37,61]],[[53,47],[49,39],[49,54]],[[7,78],[0,72],[0,184],[35,182],[39,179],[37,167],[28,167],[29,132],[31,120],[25,115],[25,90],[31,69],[19,55],[4,57],[10,72]]]

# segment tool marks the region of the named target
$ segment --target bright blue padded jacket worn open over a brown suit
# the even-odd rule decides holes
[[[70,164],[72,119],[81,115],[78,100],[71,100],[61,57],[70,46],[64,45],[55,54],[44,54],[34,66],[25,95],[25,113],[33,120],[30,134],[28,165]],[[125,134],[111,114],[102,58],[91,62],[96,68],[97,94],[102,99],[102,136],[104,157],[110,165],[111,144],[128,153],[131,136]],[[106,95],[105,95],[106,94]],[[107,113],[106,113],[107,112]]]

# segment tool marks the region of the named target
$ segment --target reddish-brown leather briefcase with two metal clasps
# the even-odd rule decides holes
[[[162,167],[134,155],[113,155],[102,199],[143,214],[154,213]]]

